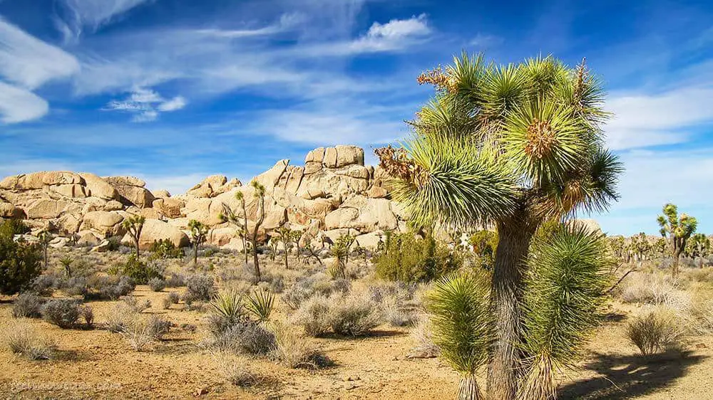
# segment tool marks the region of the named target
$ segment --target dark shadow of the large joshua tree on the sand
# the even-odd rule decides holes
[[[672,352],[649,357],[595,354],[585,369],[599,377],[574,381],[560,387],[559,399],[630,399],[650,394],[684,376],[692,365],[707,359],[690,352]]]

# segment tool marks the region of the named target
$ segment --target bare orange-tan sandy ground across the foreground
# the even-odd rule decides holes
[[[408,359],[414,342],[408,328],[381,326],[370,337],[314,339],[334,362],[317,371],[287,369],[267,359],[248,367],[262,381],[248,389],[227,383],[213,354],[202,347],[204,313],[173,305],[161,308],[170,290],[145,285],[134,295],[148,299],[145,313],[175,325],[149,352],[135,352],[123,337],[106,330],[62,330],[27,320],[53,338],[58,357],[29,361],[0,349],[0,394],[7,399],[453,399],[458,374],[438,359]],[[11,302],[0,302],[0,323]],[[98,323],[116,302],[88,302]],[[560,376],[560,399],[713,399],[713,337],[699,337],[682,353],[643,358],[624,337],[631,305],[615,302],[609,319],[588,344],[580,368]],[[484,379],[481,377],[481,384]]]

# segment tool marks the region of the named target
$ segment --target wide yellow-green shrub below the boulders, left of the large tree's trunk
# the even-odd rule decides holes
[[[461,256],[432,236],[416,238],[413,233],[392,233],[384,251],[374,258],[376,276],[403,282],[438,279],[461,268]]]

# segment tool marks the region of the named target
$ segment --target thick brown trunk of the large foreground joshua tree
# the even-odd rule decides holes
[[[488,399],[513,400],[518,390],[520,297],[523,270],[535,227],[524,212],[498,221],[498,249],[491,287],[496,339],[488,365]]]

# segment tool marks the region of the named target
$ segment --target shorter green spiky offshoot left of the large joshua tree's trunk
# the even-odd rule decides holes
[[[463,377],[458,399],[484,399],[476,370],[488,361],[493,317],[488,305],[488,280],[476,273],[446,275],[427,297],[434,343],[441,357]]]

